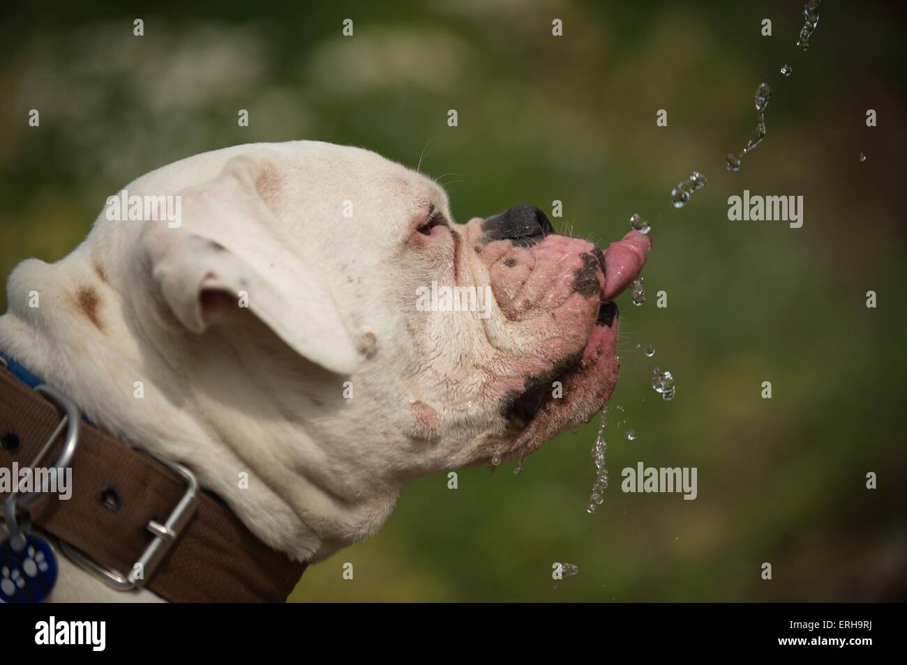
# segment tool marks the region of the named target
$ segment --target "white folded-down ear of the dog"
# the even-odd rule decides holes
[[[294,351],[350,374],[356,347],[331,294],[287,251],[278,219],[259,193],[276,187],[275,179],[268,162],[231,159],[217,178],[182,192],[179,226],[145,226],[143,263],[191,332],[204,332],[238,304],[248,306]]]

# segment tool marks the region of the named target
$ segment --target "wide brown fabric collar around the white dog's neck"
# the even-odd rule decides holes
[[[54,405],[0,361],[0,467],[30,465],[59,422]],[[63,448],[63,437],[58,439],[43,461],[46,466]],[[70,464],[72,496],[39,499],[29,509],[33,525],[58,538],[66,550],[81,552],[79,558],[121,571],[123,577],[159,541],[154,548],[166,552],[156,566],[144,565],[145,579],[135,586],[171,602],[287,599],[307,564],[262,543],[219,499],[201,491],[195,493],[194,510],[186,513],[188,521],[168,524],[191,494],[190,479],[84,420],[78,440]],[[0,494],[0,504],[4,500]]]

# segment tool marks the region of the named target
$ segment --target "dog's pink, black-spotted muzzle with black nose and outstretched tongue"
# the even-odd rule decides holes
[[[618,371],[614,298],[639,275],[649,238],[631,231],[602,251],[555,234],[530,205],[473,219],[466,233],[503,319],[521,338],[525,371],[502,401],[508,436],[497,449],[503,458],[522,457],[610,397]]]

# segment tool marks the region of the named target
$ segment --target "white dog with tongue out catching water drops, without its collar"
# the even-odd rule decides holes
[[[415,477],[522,459],[601,410],[614,298],[650,248],[557,235],[530,205],[454,224],[432,179],[317,141],[203,153],[125,191],[72,254],[15,268],[0,351],[313,563],[375,534]],[[180,218],[110,214],[133,197],[177,197]],[[161,600],[63,556],[52,595]]]

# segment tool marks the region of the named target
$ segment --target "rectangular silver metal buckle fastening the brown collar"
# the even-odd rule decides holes
[[[181,464],[155,458],[151,455],[149,457],[156,459],[163,466],[179,474],[186,481],[186,492],[163,524],[151,520],[145,525],[145,528],[154,535],[154,539],[135,563],[132,564],[132,571],[126,574],[120,573],[117,570],[98,564],[87,554],[75,549],[73,545],[63,543],[63,541],[59,542],[63,554],[66,554],[73,563],[82,566],[84,570],[101,578],[102,582],[117,591],[132,591],[133,589],[141,589],[145,585],[145,582],[154,574],[155,569],[157,569],[158,564],[161,563],[161,559],[167,554],[171,545],[180,537],[182,527],[189,522],[199,503],[199,481],[195,474]]]

